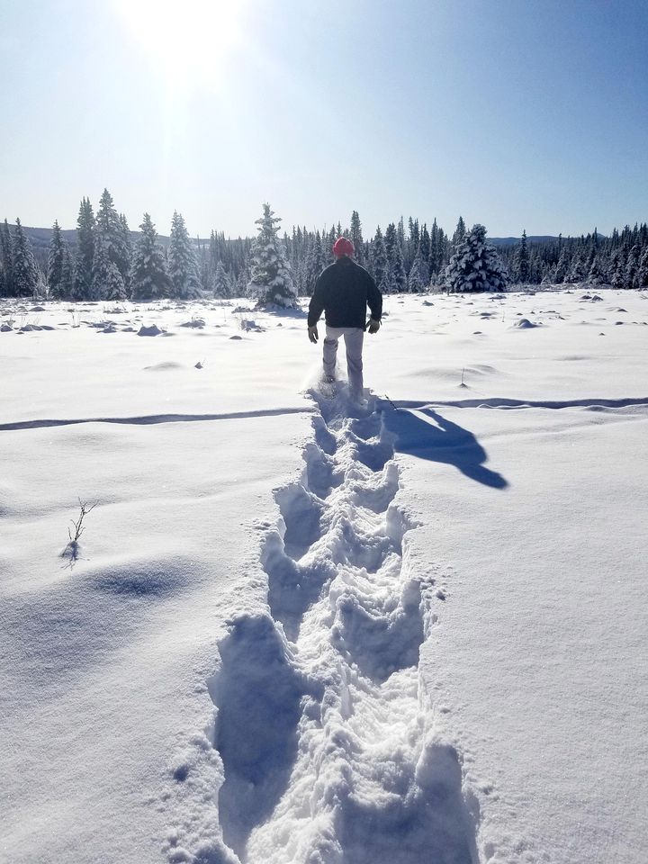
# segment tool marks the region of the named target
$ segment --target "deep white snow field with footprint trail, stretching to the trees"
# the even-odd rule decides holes
[[[648,293],[248,307],[0,302],[0,860],[644,864]]]

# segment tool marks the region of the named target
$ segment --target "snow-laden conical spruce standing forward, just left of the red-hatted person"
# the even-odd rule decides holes
[[[297,305],[293,275],[277,237],[280,221],[281,218],[270,209],[270,204],[265,203],[263,216],[256,221],[258,235],[252,247],[252,276],[247,285],[248,296],[254,298],[259,306],[269,303],[285,307]]]

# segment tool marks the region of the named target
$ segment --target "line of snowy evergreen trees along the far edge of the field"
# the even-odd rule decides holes
[[[365,238],[357,211],[350,223],[330,229],[293,227],[280,237],[281,220],[264,205],[257,238],[190,238],[175,212],[164,247],[148,213],[134,235],[112,196],[103,190],[96,213],[88,198],[80,202],[76,243],[63,237],[55,221],[47,256],[34,255],[20,220],[0,224],[0,296],[49,296],[73,301],[191,300],[201,296],[259,297],[263,248],[272,247],[282,273],[290,275],[286,296],[311,295],[317,277],[332,263],[331,248],[340,235],[350,238],[356,261],[374,276],[383,293],[419,293],[430,288],[451,292],[503,290],[509,284],[586,282],[616,288],[648,287],[648,228],[615,229],[608,238],[596,229],[587,237],[519,243],[494,249],[481,225],[466,229],[460,217],[452,236],[433,220],[402,218]],[[285,264],[285,266],[284,266]],[[263,270],[263,266],[261,267]],[[276,272],[273,278],[277,278]],[[276,293],[276,292],[275,292]],[[281,293],[281,292],[280,292]]]

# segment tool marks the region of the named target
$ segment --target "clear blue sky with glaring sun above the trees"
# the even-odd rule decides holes
[[[648,3],[0,0],[0,218],[648,219]]]

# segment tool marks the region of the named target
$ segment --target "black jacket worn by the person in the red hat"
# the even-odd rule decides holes
[[[323,270],[315,283],[309,306],[308,326],[312,327],[325,312],[329,327],[366,327],[367,304],[371,316],[381,320],[383,295],[364,267],[349,257],[340,257]]]

